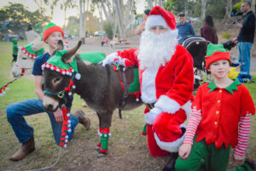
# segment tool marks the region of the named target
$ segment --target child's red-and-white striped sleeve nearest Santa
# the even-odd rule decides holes
[[[196,110],[196,107],[194,106],[189,117],[189,122],[187,125],[187,130],[185,134],[185,139],[183,140],[183,144],[193,145],[195,132],[200,122],[201,122],[201,110]]]

